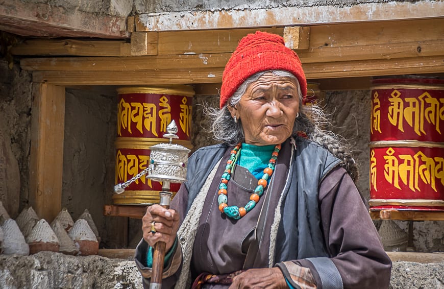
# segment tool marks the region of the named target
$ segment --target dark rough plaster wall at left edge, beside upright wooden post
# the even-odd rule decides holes
[[[31,75],[16,64],[10,69],[8,62],[0,58],[0,134],[4,139],[3,151],[8,155],[8,180],[4,185],[18,194],[20,200],[8,205],[11,218],[28,204],[31,102]],[[17,202],[18,196],[10,198]]]

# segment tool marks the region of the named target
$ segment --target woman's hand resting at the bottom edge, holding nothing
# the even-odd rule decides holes
[[[288,288],[282,271],[277,268],[250,269],[233,278],[229,289]]]

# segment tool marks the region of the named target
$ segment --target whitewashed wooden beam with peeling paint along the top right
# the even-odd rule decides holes
[[[320,5],[192,12],[160,12],[135,16],[136,31],[181,31],[442,17],[444,2],[416,1]]]

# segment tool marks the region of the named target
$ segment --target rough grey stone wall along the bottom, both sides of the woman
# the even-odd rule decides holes
[[[444,262],[393,262],[390,288],[444,288]],[[133,260],[53,252],[0,255],[2,288],[142,288]]]

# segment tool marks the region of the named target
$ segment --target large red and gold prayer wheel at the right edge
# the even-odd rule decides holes
[[[372,81],[371,210],[444,210],[444,79]]]

